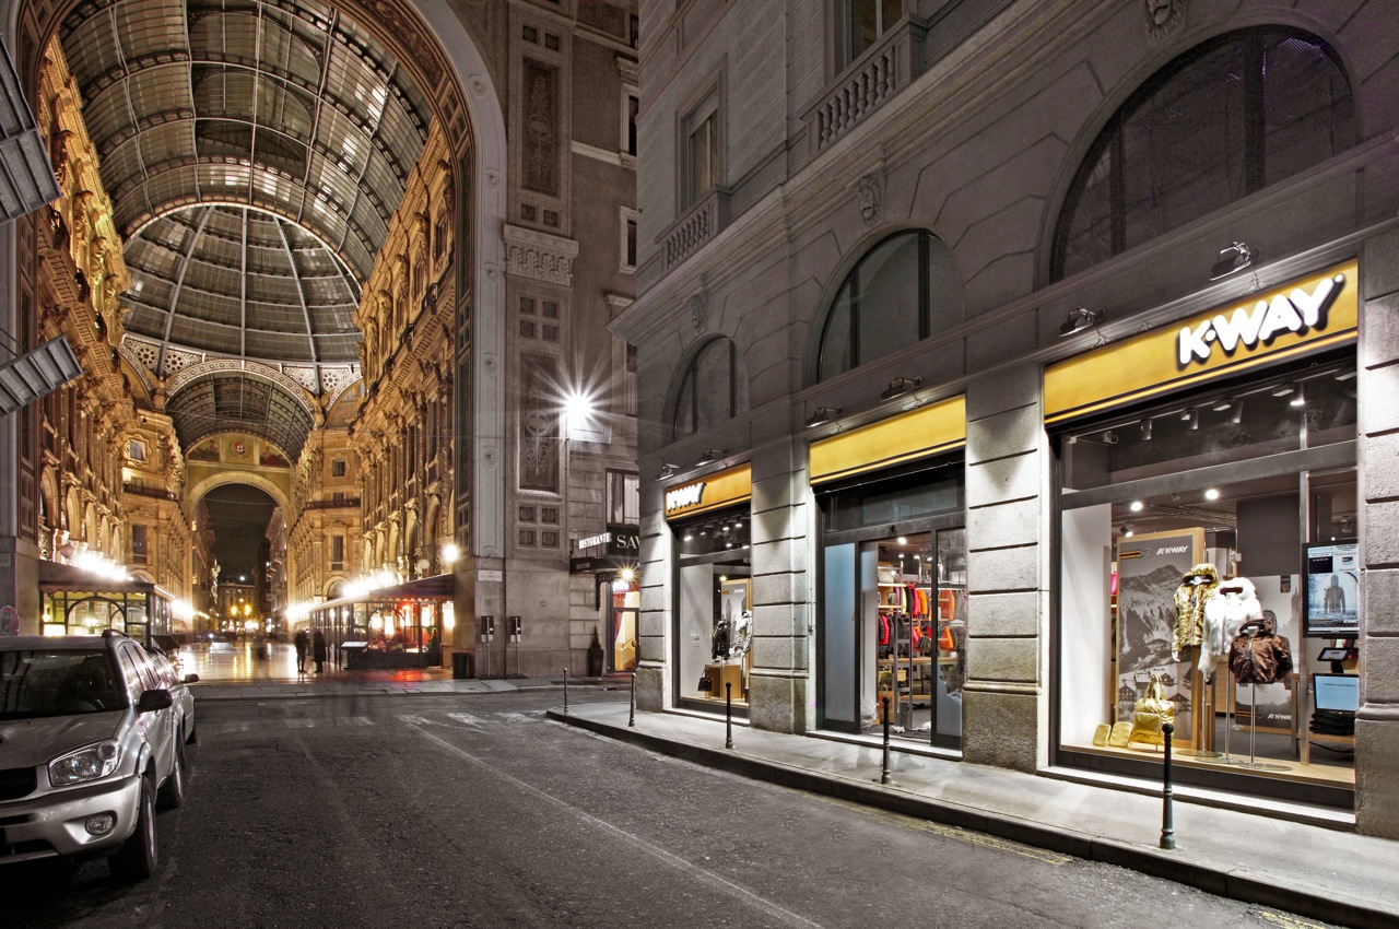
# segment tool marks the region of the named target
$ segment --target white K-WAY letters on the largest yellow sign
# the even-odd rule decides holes
[[[1346,276],[1323,277],[1308,294],[1301,287],[1290,292],[1277,292],[1272,299],[1260,299],[1252,306],[1237,306],[1233,313],[1223,312],[1196,326],[1181,329],[1177,340],[1181,368],[1193,362],[1206,362],[1216,347],[1226,355],[1233,355],[1242,346],[1254,348],[1267,344],[1283,333],[1305,334],[1314,329],[1326,327],[1326,311],[1335,302]]]

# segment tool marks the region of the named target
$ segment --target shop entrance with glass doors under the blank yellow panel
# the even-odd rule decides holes
[[[967,676],[963,464],[823,488],[818,726],[956,749]]]

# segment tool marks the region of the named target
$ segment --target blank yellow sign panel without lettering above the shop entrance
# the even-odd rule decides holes
[[[811,442],[811,483],[890,467],[967,444],[967,397],[958,395]]]

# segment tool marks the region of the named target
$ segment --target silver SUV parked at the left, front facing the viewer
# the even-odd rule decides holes
[[[134,639],[0,638],[0,865],[109,855],[150,877],[155,807],[185,799],[179,725]]]

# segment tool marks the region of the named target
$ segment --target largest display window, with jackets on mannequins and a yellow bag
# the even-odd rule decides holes
[[[1158,776],[1171,722],[1181,781],[1351,803],[1354,376],[1314,355],[1055,432],[1060,763]]]

